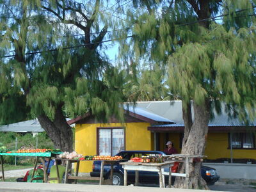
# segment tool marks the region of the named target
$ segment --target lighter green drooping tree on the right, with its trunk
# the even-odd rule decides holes
[[[133,36],[120,41],[120,53],[168,70],[170,92],[182,100],[182,154],[204,155],[213,107],[247,124],[255,118],[255,1],[132,3],[126,14]],[[207,189],[201,164],[191,163],[189,179],[177,177],[175,188]]]

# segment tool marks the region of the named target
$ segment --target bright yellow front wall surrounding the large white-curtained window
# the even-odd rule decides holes
[[[149,123],[127,124],[77,124],[75,150],[78,154],[97,154],[97,127],[125,127],[125,150],[152,150],[152,136]],[[92,161],[82,161],[79,172],[92,172]]]

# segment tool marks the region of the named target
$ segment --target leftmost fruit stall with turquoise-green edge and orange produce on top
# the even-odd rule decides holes
[[[45,166],[45,157],[49,157],[49,161],[51,161],[52,157],[56,157],[58,154],[61,154],[62,152],[60,150],[52,150],[52,149],[46,149],[46,148],[36,148],[36,149],[19,149],[19,150],[12,150],[8,151],[6,149],[1,150],[0,152],[0,159],[1,159],[1,169],[3,176],[1,177],[4,181],[4,160],[3,156],[24,156],[24,157],[36,157],[35,166],[33,169],[33,173],[31,176],[31,182],[33,180],[38,179],[44,179],[44,182],[47,182],[47,170],[49,168],[49,163],[47,164],[47,167]],[[43,178],[34,178],[36,166],[38,164],[39,158],[42,158],[42,164],[43,164],[43,170],[44,170],[44,177]]]

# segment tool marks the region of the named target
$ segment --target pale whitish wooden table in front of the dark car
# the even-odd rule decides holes
[[[164,163],[135,163],[135,162],[122,162],[124,168],[124,186],[127,186],[127,170],[135,171],[135,186],[138,186],[139,171],[157,172],[159,174],[159,187],[164,188],[164,168],[169,169],[169,186],[172,179],[172,166],[175,161],[167,161]]]

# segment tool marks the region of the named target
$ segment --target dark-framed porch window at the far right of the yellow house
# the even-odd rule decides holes
[[[255,135],[252,132],[232,132],[230,134],[229,140],[232,148],[255,148]]]

